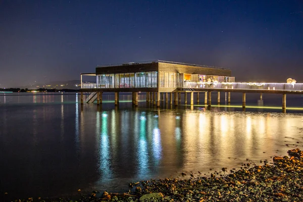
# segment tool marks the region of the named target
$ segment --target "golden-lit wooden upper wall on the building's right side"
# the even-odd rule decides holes
[[[175,72],[184,74],[202,74],[202,75],[216,75],[216,76],[231,76],[231,70],[216,69],[207,67],[196,67],[189,65],[176,65],[169,63],[159,63],[159,72]]]

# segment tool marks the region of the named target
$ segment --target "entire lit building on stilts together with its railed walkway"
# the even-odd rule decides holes
[[[82,76],[95,76],[96,83],[85,83]],[[242,93],[242,108],[246,107],[246,93],[281,94],[282,110],[286,109],[286,94],[303,94],[301,83],[236,83],[231,77],[231,71],[224,68],[199,66],[194,64],[153,61],[143,63],[128,63],[120,65],[99,66],[96,73],[81,74],[81,104],[102,104],[103,92],[115,93],[115,106],[119,105],[120,92],[132,92],[132,104],[138,106],[138,92],[146,93],[146,102],[160,107],[160,103],[178,106],[181,103],[181,93],[184,94],[184,104],[190,96],[189,105],[194,105],[194,93],[205,96],[204,105],[212,106],[212,93],[217,93],[217,104],[220,105],[220,93],[226,92],[227,102],[231,103],[231,93]],[[91,94],[83,98],[83,92]],[[169,102],[168,102],[169,101]]]

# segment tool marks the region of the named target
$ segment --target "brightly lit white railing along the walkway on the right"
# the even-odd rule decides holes
[[[183,82],[182,88],[219,88],[251,90],[289,90],[303,91],[303,83],[216,83],[216,82]]]

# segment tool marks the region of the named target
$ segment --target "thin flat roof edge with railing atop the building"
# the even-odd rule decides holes
[[[130,63],[98,65],[97,67],[114,67],[114,66],[150,64],[150,63],[168,63],[168,64],[175,64],[175,65],[187,65],[187,66],[194,66],[194,67],[206,67],[206,68],[227,69],[227,70],[229,70],[229,68],[223,68],[223,67],[215,67],[215,66],[208,66],[208,65],[197,65],[197,64],[190,64],[190,63],[179,63],[179,62],[164,61],[164,60],[154,60],[154,61],[143,61],[143,62],[130,62]]]

